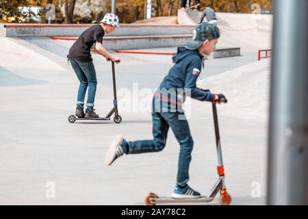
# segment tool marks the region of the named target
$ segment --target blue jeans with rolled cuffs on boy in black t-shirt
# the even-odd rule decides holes
[[[70,60],[79,81],[79,90],[77,95],[77,104],[84,105],[84,99],[88,88],[88,101],[87,106],[94,106],[95,92],[97,91],[97,73],[93,62],[78,62],[76,60]]]

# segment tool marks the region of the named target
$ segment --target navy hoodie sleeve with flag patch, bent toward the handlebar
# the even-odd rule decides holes
[[[190,89],[190,96],[199,101],[213,101],[214,94],[196,88],[196,80],[201,73],[201,60],[194,58],[188,64],[185,78],[185,89]]]

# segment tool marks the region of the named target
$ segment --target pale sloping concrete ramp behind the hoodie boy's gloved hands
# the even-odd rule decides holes
[[[266,122],[270,96],[270,61],[255,62],[214,75],[198,81],[198,86],[214,93],[226,94],[229,103],[221,107],[222,115]]]

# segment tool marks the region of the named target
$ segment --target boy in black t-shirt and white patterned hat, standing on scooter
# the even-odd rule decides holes
[[[118,16],[115,14],[105,14],[101,24],[93,25],[86,29],[76,40],[68,53],[68,60],[72,65],[79,81],[77,95],[77,107],[75,115],[79,118],[99,118],[94,112],[94,99],[97,90],[97,74],[91,57],[91,50],[99,55],[103,55],[107,61],[119,63],[120,58],[113,57],[103,47],[103,36],[114,32],[118,25]],[[88,88],[88,101],[86,103],[86,114],[84,113],[84,99]]]

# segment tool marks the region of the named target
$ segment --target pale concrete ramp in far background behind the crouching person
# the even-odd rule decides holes
[[[197,25],[201,21],[201,13],[179,10],[178,23]],[[221,32],[220,41],[235,44],[244,51],[272,48],[272,15],[216,13],[216,16]]]

